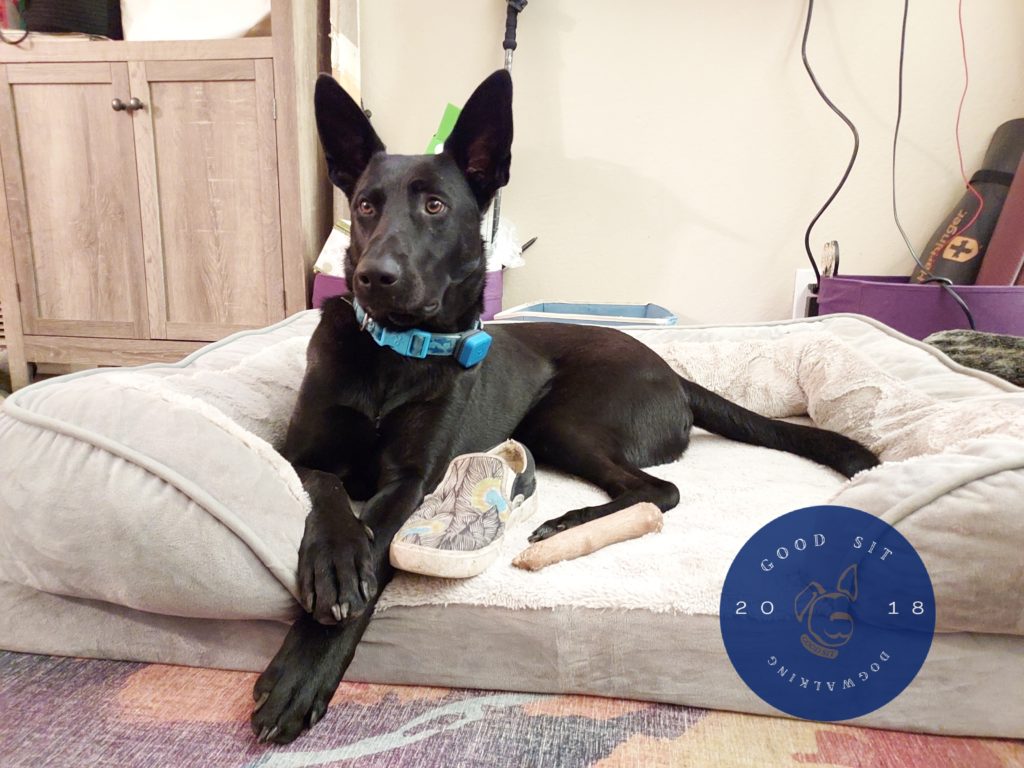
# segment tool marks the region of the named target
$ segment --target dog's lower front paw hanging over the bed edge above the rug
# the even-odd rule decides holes
[[[327,712],[344,672],[331,644],[340,627],[300,618],[253,688],[250,723],[259,741],[286,744],[312,728]]]

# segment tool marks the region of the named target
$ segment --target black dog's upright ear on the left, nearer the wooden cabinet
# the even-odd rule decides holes
[[[316,78],[313,104],[328,176],[345,197],[351,198],[370,159],[384,152],[384,144],[362,109],[330,75]]]

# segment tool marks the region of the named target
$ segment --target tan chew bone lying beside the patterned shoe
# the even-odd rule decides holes
[[[589,555],[609,544],[638,539],[662,529],[662,510],[650,502],[640,502],[606,517],[585,522],[550,539],[531,544],[512,561],[517,568],[541,568],[577,557]]]

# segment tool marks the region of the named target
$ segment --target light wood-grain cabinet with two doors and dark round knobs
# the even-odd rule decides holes
[[[274,2],[272,38],[0,49],[15,387],[30,362],[172,360],[306,307],[331,207],[317,5]]]

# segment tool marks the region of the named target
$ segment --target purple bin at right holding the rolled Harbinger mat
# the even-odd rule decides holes
[[[978,331],[1024,336],[1024,287],[954,286],[971,309]],[[934,284],[908,278],[822,278],[818,314],[856,312],[885,323],[914,339],[971,326],[959,304]]]

